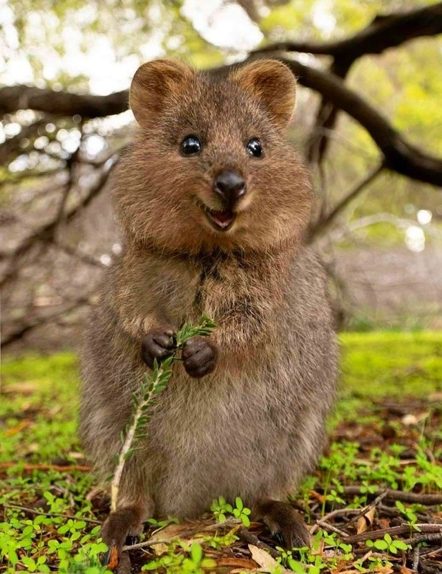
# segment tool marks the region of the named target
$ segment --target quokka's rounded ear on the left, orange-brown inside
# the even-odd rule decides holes
[[[142,64],[131,84],[129,104],[137,122],[148,125],[162,113],[168,99],[176,96],[195,71],[180,61],[161,59]]]

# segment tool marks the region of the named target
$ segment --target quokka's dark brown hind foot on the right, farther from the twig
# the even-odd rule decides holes
[[[310,546],[309,531],[299,513],[287,502],[265,500],[256,506],[254,515],[269,528],[271,535],[291,550]]]

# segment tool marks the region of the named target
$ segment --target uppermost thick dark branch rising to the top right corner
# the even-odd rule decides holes
[[[381,54],[403,42],[423,36],[442,34],[442,2],[405,14],[377,16],[356,35],[323,44],[313,42],[278,42],[258,48],[253,53],[307,52],[328,55],[350,63],[366,54]]]

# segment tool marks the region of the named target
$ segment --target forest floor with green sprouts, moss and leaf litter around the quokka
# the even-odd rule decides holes
[[[442,332],[340,340],[329,444],[292,499],[311,549],[281,551],[220,499],[198,523],[146,524],[134,573],[442,572]],[[77,439],[75,356],[3,358],[2,371],[0,572],[102,574],[108,499]]]

